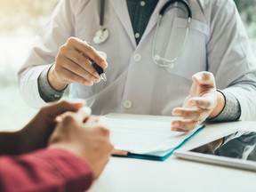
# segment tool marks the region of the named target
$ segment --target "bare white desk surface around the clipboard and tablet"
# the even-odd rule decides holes
[[[118,117],[118,116],[117,116]],[[128,117],[131,116],[121,116]],[[136,117],[136,116],[132,116]],[[143,117],[143,116],[140,116]],[[159,117],[156,117],[159,118]],[[170,117],[161,117],[170,121]],[[194,148],[237,129],[256,129],[256,122],[207,124],[184,148]],[[90,192],[255,192],[256,172],[169,157],[164,162],[111,157]]]

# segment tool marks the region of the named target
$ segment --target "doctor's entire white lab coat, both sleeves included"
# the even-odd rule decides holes
[[[87,100],[93,114],[171,116],[172,108],[182,106],[188,95],[192,75],[208,70],[215,76],[218,89],[233,93],[239,100],[241,119],[256,116],[256,62],[232,0],[188,1],[193,19],[174,68],[160,68],[151,57],[158,12],[167,0],[156,5],[138,46],[125,0],[106,1],[104,27],[110,36],[103,44],[93,43],[100,22],[98,2],[60,0],[19,71],[20,92],[28,105],[44,105],[37,78],[54,62],[60,45],[69,36],[76,36],[108,55],[107,82],[70,85],[70,97]],[[186,26],[186,14],[173,9],[165,12],[156,37],[156,53],[167,59],[177,56]]]

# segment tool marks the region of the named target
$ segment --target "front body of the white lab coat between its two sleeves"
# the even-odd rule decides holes
[[[188,95],[191,77],[209,68],[206,55],[211,32],[202,7],[194,0],[189,1],[193,18],[186,44],[173,67],[161,68],[154,63],[151,51],[158,13],[167,1],[160,0],[156,5],[138,45],[126,1],[105,2],[104,28],[109,31],[106,42],[94,44],[92,40],[100,28],[98,1],[76,1],[76,12],[70,15],[74,26],[69,27],[69,31],[70,36],[84,39],[96,50],[107,53],[108,68],[105,73],[108,81],[92,86],[71,84],[70,97],[86,99],[92,113],[97,115],[112,112],[171,115],[172,108],[180,107]],[[166,11],[156,36],[156,53],[166,59],[176,57],[186,28],[186,12],[178,9]],[[213,68],[212,72],[217,68]]]

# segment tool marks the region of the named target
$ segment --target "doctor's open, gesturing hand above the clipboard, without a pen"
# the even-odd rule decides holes
[[[196,128],[205,119],[218,116],[225,106],[224,96],[216,91],[215,79],[210,72],[199,72],[193,77],[188,97],[182,108],[173,108],[172,131],[186,132]]]

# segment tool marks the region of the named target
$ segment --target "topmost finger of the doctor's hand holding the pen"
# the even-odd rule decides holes
[[[107,61],[90,44],[86,44],[83,40],[75,37],[69,38],[68,41],[70,44],[76,44],[75,48],[78,52],[83,52],[84,55],[94,60],[101,68],[108,67]]]

